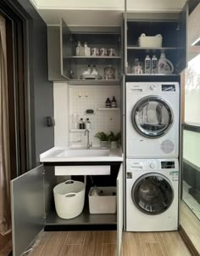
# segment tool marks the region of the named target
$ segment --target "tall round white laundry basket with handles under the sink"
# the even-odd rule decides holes
[[[69,179],[53,188],[55,208],[62,219],[72,219],[84,208],[86,185]]]

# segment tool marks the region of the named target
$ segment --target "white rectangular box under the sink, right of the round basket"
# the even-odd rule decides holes
[[[99,196],[92,196],[92,187],[89,191],[89,211],[92,214],[116,213],[117,197],[116,187],[97,187]]]

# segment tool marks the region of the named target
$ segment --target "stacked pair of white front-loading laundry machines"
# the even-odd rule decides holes
[[[126,82],[126,230],[177,230],[179,82]]]

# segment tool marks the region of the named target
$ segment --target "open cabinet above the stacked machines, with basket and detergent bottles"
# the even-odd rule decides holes
[[[187,5],[178,13],[125,13],[125,74],[179,75],[187,65],[187,17]],[[161,54],[168,60],[153,71]]]

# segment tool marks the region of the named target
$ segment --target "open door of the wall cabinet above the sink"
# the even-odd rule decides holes
[[[69,27],[62,19],[60,22],[60,66],[61,75],[69,79],[70,56],[72,56],[72,41]]]

